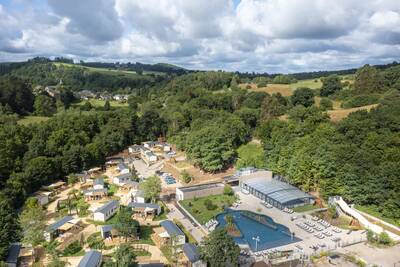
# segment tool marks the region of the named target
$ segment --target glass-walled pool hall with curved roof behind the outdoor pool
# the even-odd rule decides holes
[[[240,177],[240,187],[243,192],[277,208],[293,208],[314,202],[314,197],[297,187],[272,178],[272,172],[257,171]]]

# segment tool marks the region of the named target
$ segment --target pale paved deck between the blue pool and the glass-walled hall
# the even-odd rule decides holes
[[[323,248],[324,251],[326,250],[334,250],[338,247],[338,244],[336,244],[334,241],[332,241],[332,238],[339,237],[341,238],[341,241],[339,244],[350,244],[350,243],[357,243],[361,240],[365,240],[366,234],[363,233],[364,231],[353,231],[350,234],[347,234],[347,230],[342,230],[341,233],[333,233],[331,237],[325,237],[324,239],[319,239],[314,236],[315,233],[308,233],[304,231],[303,229],[299,228],[296,223],[299,222],[304,222],[305,219],[303,219],[302,213],[292,213],[288,214],[286,212],[283,212],[277,208],[266,208],[263,205],[261,205],[261,200],[256,198],[255,196],[249,194],[246,195],[240,190],[235,190],[236,194],[240,197],[241,204],[235,208],[234,210],[249,210],[253,211],[255,213],[261,213],[265,214],[269,217],[271,217],[276,223],[283,224],[286,227],[290,229],[291,232],[295,233],[296,237],[299,237],[302,239],[299,242],[288,244],[285,246],[280,246],[276,247],[275,249],[280,250],[280,251],[285,251],[285,250],[294,250],[297,251],[301,254],[306,254],[306,255],[311,255],[312,253],[315,253],[315,250],[310,248],[310,246],[318,246],[318,244],[325,244],[326,247]],[[257,211],[261,210],[261,211]],[[298,217],[296,220],[291,221],[291,217],[296,216]],[[308,220],[311,220],[310,215],[305,215],[307,216]],[[328,228],[329,230],[330,228]],[[296,247],[296,245],[300,245],[303,248],[303,251],[299,251],[299,249]]]

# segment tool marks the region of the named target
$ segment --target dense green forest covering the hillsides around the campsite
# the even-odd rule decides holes
[[[127,145],[160,136],[208,172],[232,166],[238,147],[258,138],[266,155],[263,165],[289,182],[324,198],[342,195],[400,220],[400,66],[366,65],[350,84],[329,75],[320,89],[298,88],[289,97],[239,85],[295,83],[299,77],[266,80],[222,71],[138,77],[60,68],[46,60],[12,67],[0,77],[1,257],[9,242],[18,239],[15,214],[27,196],[102,164]],[[59,98],[37,90],[59,79]],[[71,106],[75,100],[70,92],[85,88],[127,90],[129,107]],[[319,104],[316,96],[323,99]],[[335,123],[326,112],[332,101],[377,107]],[[46,122],[18,124],[20,116],[49,108]]]

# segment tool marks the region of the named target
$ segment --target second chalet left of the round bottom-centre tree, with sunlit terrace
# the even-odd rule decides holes
[[[186,242],[186,236],[182,230],[172,221],[165,220],[160,223],[159,228],[154,229],[154,241],[159,247],[165,245],[179,246]]]

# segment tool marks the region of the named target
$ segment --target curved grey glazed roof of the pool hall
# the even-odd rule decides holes
[[[253,178],[243,183],[282,204],[298,199],[314,198],[297,187],[277,180]]]

